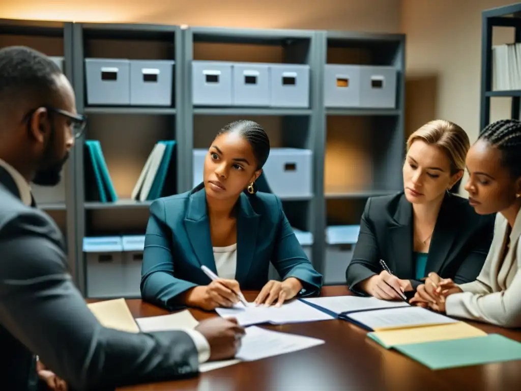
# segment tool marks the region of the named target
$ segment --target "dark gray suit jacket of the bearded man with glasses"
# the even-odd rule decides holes
[[[67,273],[63,236],[24,205],[0,167],[0,378],[6,390],[37,387],[34,355],[69,389],[195,375],[197,350],[182,331],[125,333],[103,327]]]

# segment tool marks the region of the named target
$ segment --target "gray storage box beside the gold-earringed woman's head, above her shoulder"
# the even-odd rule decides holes
[[[263,167],[272,192],[281,198],[313,195],[313,152],[297,148],[273,148]]]

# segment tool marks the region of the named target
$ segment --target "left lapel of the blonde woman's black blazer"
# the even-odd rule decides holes
[[[398,200],[398,206],[389,226],[391,256],[384,261],[399,278],[414,278],[413,264],[413,205],[405,195]],[[394,269],[394,270],[393,270]]]

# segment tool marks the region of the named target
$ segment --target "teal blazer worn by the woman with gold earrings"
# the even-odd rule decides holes
[[[299,296],[318,294],[322,276],[307,259],[280,199],[269,193],[241,193],[237,206],[235,279],[241,289],[262,289],[268,282],[271,261],[282,279],[295,277],[301,281]],[[176,300],[179,294],[210,283],[202,265],[217,273],[202,185],[155,200],[146,227],[143,300],[170,310],[182,307]]]

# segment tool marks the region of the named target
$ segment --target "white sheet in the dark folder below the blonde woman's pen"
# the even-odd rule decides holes
[[[405,301],[380,300],[376,297],[359,296],[332,296],[332,297],[312,297],[302,299],[336,314],[346,311],[360,311],[375,308],[410,307]]]

